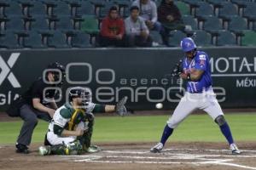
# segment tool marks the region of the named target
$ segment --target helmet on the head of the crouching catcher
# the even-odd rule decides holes
[[[68,93],[68,99],[69,101],[72,101],[73,98],[82,98],[82,103],[84,105],[88,102],[91,102],[90,88],[82,88],[82,87],[71,88]]]

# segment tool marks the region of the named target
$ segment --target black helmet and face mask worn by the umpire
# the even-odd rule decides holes
[[[61,78],[61,83],[63,83],[63,79],[64,77],[66,77],[66,72],[65,72],[65,66],[64,65],[61,65],[60,63],[58,62],[54,62],[54,63],[50,63],[48,66],[47,66],[47,69],[49,70],[53,70],[53,71],[49,71],[51,73],[53,73],[55,75],[55,82],[58,82]],[[55,71],[57,70],[57,71]],[[60,75],[60,72],[61,72],[61,75]]]

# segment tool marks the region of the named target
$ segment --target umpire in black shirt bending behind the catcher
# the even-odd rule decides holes
[[[50,89],[61,87],[65,77],[65,67],[57,62],[48,65],[43,77],[32,83],[25,94],[15,100],[9,107],[9,116],[20,116],[24,121],[16,143],[16,152],[28,154],[28,145],[31,143],[32,133],[38,124],[38,118],[50,122],[57,109],[55,95],[57,90]],[[58,82],[58,84],[56,84]],[[48,88],[48,90],[46,90]]]

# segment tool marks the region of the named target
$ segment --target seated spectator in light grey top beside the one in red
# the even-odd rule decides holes
[[[128,47],[151,47],[152,39],[149,36],[148,27],[142,17],[139,16],[139,8],[132,6],[130,16],[125,19],[125,34]]]

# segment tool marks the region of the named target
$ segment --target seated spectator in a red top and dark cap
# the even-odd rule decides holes
[[[119,17],[118,8],[113,6],[109,9],[108,16],[102,20],[99,43],[102,47],[123,47],[124,34],[124,20]]]

